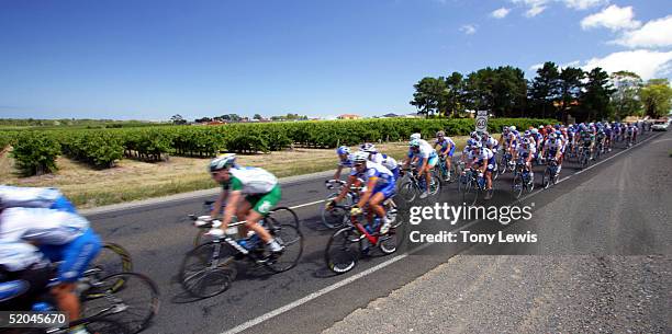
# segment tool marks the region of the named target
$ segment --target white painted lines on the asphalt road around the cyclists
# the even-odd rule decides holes
[[[652,137],[647,138],[646,140],[639,142],[638,145],[641,145],[641,143],[650,140],[650,139],[652,139]],[[600,162],[597,162],[595,164],[590,165],[589,168],[586,168],[584,170],[581,170],[581,171],[579,171],[579,172],[576,172],[576,173],[574,173],[572,175],[568,175],[564,178],[558,181],[558,183],[563,182],[563,181],[565,181],[565,180],[568,180],[568,178],[570,178],[570,177],[572,177],[572,176],[574,176],[576,174],[580,174],[580,173],[582,173],[584,171],[587,171],[587,170],[590,170],[590,169],[592,169],[592,168],[594,168],[596,165],[600,165],[601,163],[607,162],[611,159],[616,158],[619,154],[625,153],[627,151],[628,151],[627,149],[624,150],[624,151],[620,151],[620,152],[618,152],[618,153],[616,153],[616,154],[614,154],[614,156],[612,156],[612,157],[609,157],[607,159],[604,159],[604,160],[602,160],[602,161],[600,161]],[[525,199],[527,199],[529,197],[533,197],[533,196],[541,193],[542,191],[545,191],[545,189],[541,188],[541,189],[539,189],[539,191],[537,191],[535,193],[531,193],[531,194],[523,197],[523,199],[520,199],[520,200],[525,200]],[[315,200],[315,201],[312,201],[312,203],[306,203],[306,204],[293,206],[291,208],[294,209],[294,208],[299,208],[299,207],[305,207],[305,206],[323,203],[325,200],[326,199]],[[472,221],[472,222],[463,226],[462,228],[457,229],[456,231],[460,231],[462,229],[466,229],[466,228],[477,223],[478,221],[479,220]],[[285,304],[285,306],[283,306],[281,308],[275,309],[275,310],[272,310],[272,311],[270,311],[268,313],[261,314],[261,315],[259,315],[259,316],[257,316],[257,318],[255,318],[253,320],[246,321],[246,322],[244,322],[244,323],[242,323],[242,324],[239,324],[239,325],[237,325],[237,326],[235,326],[235,327],[233,327],[233,329],[231,329],[228,331],[222,332],[221,334],[236,334],[236,333],[240,333],[243,331],[246,331],[246,330],[248,330],[248,329],[250,329],[253,326],[256,326],[256,325],[258,325],[258,324],[260,324],[260,323],[262,323],[262,322],[265,322],[265,321],[267,321],[267,320],[269,320],[271,318],[280,315],[280,314],[282,314],[282,313],[284,313],[287,311],[290,311],[292,309],[295,309],[295,308],[298,308],[298,307],[300,307],[300,306],[302,306],[302,304],[304,304],[304,303],[306,303],[306,302],[309,302],[309,301],[311,301],[311,300],[313,300],[315,298],[324,296],[324,295],[326,295],[326,293],[328,293],[331,291],[334,291],[334,290],[336,290],[336,289],[338,289],[338,288],[340,288],[343,286],[346,286],[346,285],[348,285],[348,284],[350,284],[350,283],[352,283],[352,281],[355,281],[355,280],[357,280],[359,278],[362,278],[365,276],[373,274],[373,273],[376,273],[376,272],[378,272],[378,270],[380,270],[380,269],[382,269],[382,268],[384,268],[384,267],[387,267],[387,266],[389,266],[389,265],[391,265],[391,264],[393,264],[393,263],[395,263],[395,262],[397,262],[397,261],[408,256],[410,254],[418,252],[419,250],[423,250],[423,249],[425,249],[426,246],[429,246],[429,245],[430,245],[430,243],[426,243],[426,244],[424,244],[424,245],[422,245],[422,246],[411,251],[410,253],[404,253],[404,254],[401,254],[401,255],[396,255],[396,256],[394,256],[394,257],[392,257],[392,258],[390,258],[390,260],[388,260],[385,262],[382,262],[382,263],[380,263],[380,264],[378,264],[378,265],[376,265],[376,266],[373,266],[371,268],[368,268],[368,269],[366,269],[366,270],[363,270],[363,272],[361,272],[359,274],[352,275],[352,276],[350,276],[350,277],[348,277],[348,278],[346,278],[344,280],[339,280],[339,281],[337,281],[337,283],[335,283],[335,284],[333,284],[331,286],[324,287],[324,288],[322,288],[318,291],[312,292],[312,293],[310,293],[310,295],[307,295],[307,296],[305,296],[305,297],[303,297],[301,299],[298,299],[298,300],[295,300],[293,302],[290,302],[290,303],[288,303],[288,304]]]

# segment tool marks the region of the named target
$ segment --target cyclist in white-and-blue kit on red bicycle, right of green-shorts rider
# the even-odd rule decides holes
[[[357,182],[358,178],[363,180],[366,191],[361,195],[359,201],[351,208],[351,215],[360,215],[361,208],[369,205],[369,215],[367,217],[369,223],[373,221],[373,214],[383,222],[380,227],[380,233],[384,234],[390,229],[392,220],[385,215],[385,209],[382,203],[394,195],[394,175],[390,170],[380,163],[369,161],[368,152],[357,152],[352,157],[354,166],[350,171],[350,176],[346,185],[338,194],[338,197],[327,203],[327,209],[332,208],[338,201],[345,198],[350,185]]]

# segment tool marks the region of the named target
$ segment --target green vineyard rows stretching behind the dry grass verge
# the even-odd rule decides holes
[[[257,153],[290,146],[335,148],[365,141],[406,140],[421,133],[432,138],[438,130],[449,136],[467,135],[473,119],[387,118],[362,120],[316,120],[222,126],[157,126],[142,128],[15,130],[0,133],[0,151],[12,146],[11,156],[24,175],[52,172],[63,154],[94,168],[114,166],[122,158],[159,161],[169,156],[213,157],[221,151]],[[555,123],[549,119],[495,118],[489,130],[505,125],[518,128]]]

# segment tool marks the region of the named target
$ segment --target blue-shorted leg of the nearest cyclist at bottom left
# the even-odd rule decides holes
[[[93,261],[102,242],[100,237],[88,229],[83,234],[61,246],[63,263],[58,266],[57,278],[59,285],[52,288],[58,309],[68,313],[69,320],[78,320],[80,302],[75,293],[77,280]]]

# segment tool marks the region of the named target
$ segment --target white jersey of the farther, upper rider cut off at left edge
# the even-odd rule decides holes
[[[0,201],[5,208],[48,208],[63,194],[56,188],[0,185]]]

